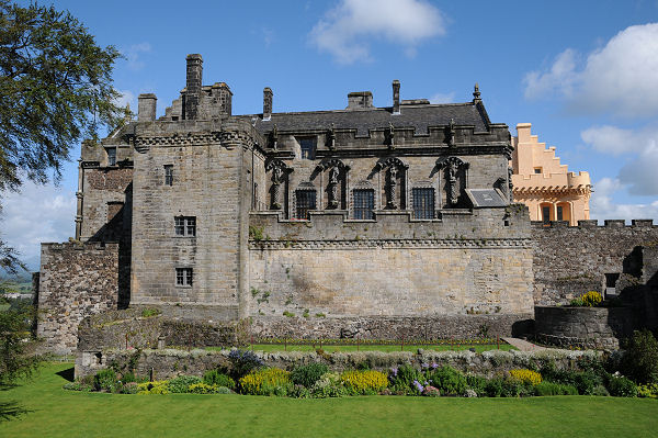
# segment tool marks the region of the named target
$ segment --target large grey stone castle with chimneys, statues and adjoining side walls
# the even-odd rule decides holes
[[[76,239],[42,246],[37,333],[54,350],[76,348],[83,317],[128,306],[250,318],[259,336],[512,333],[658,240],[651,221],[531,223],[512,201],[509,128],[477,85],[469,102],[430,104],[400,100],[396,80],[392,106],[362,91],[298,113],[273,112],[265,88],[262,113],[232,115],[202,66],[188,56],[163,116],[140,94],[136,121],[83,143]],[[578,249],[558,238],[571,231]]]

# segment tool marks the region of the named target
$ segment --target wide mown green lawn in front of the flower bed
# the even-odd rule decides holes
[[[656,437],[658,401],[591,396],[291,400],[69,392],[48,364],[0,392],[31,412],[1,437]],[[58,374],[58,372],[60,374]]]

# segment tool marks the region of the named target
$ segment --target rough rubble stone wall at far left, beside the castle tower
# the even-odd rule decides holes
[[[118,244],[42,244],[37,336],[48,350],[72,352],[82,318],[117,302]]]

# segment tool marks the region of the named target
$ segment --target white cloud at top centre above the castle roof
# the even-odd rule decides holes
[[[370,60],[370,38],[383,38],[406,46],[416,56],[416,45],[443,35],[441,11],[423,0],[341,0],[310,32],[310,41],[329,52],[338,63]]]

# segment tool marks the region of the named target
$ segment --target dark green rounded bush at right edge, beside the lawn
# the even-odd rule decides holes
[[[658,341],[651,332],[635,330],[625,348],[622,374],[637,383],[658,383]]]

